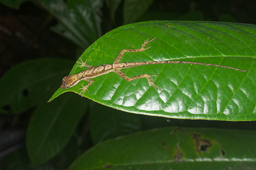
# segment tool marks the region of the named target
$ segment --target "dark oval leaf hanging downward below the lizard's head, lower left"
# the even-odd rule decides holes
[[[29,158],[39,165],[57,155],[69,141],[87,109],[81,96],[69,94],[44,103],[33,114],[26,136]]]

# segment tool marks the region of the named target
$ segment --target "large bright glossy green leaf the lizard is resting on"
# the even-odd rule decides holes
[[[128,77],[151,77],[127,82],[111,72],[94,78],[84,93],[89,99],[122,111],[182,119],[256,120],[256,26],[199,21],[149,21],[116,28],[94,42],[81,55],[89,65],[111,64],[123,48],[140,48],[149,37],[156,39],[142,52],[126,52],[121,62],[183,60],[225,65],[236,71],[209,65],[158,64],[122,69]],[[84,70],[76,63],[70,74]],[[56,96],[81,84],[59,88]]]

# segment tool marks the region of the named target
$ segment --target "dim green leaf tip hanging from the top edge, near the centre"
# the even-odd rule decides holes
[[[123,23],[133,23],[150,7],[154,0],[125,0],[123,6]]]

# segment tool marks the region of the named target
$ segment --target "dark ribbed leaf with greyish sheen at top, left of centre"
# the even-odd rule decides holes
[[[80,47],[88,47],[102,34],[100,9],[103,0],[68,0],[67,4],[63,0],[40,2],[62,23],[52,27],[52,30]]]

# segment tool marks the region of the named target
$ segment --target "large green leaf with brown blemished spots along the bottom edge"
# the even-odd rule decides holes
[[[69,170],[241,170],[256,166],[256,132],[168,127],[102,142]]]

